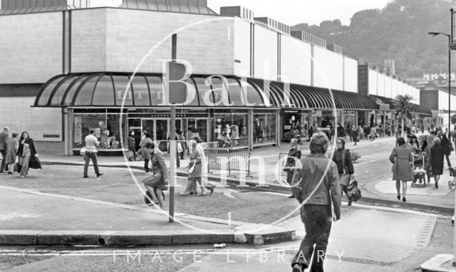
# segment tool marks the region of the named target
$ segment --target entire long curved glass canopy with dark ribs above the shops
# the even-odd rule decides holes
[[[35,107],[162,107],[165,103],[162,75],[137,73],[73,73],[56,75],[43,85]],[[329,90],[284,84],[257,78],[192,75],[185,80],[185,107],[253,107],[331,109]],[[332,91],[336,108],[378,110],[371,98],[358,93]]]

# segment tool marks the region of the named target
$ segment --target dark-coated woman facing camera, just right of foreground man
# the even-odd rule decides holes
[[[350,150],[345,148],[345,140],[340,137],[336,140],[337,150],[334,151],[333,162],[336,162],[339,175],[339,184],[341,185],[341,196],[344,192],[348,198],[348,206],[351,206],[352,199],[348,197],[347,186],[355,173],[353,162],[351,162]]]

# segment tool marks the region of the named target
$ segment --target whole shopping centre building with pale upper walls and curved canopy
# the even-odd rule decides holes
[[[0,31],[0,125],[28,131],[41,152],[73,155],[91,129],[106,154],[129,130],[136,142],[145,131],[160,141],[172,127],[232,147],[279,145],[336,122],[396,122],[392,98],[405,94],[420,120],[431,116],[403,80],[242,7],[217,14],[205,0],[3,0]],[[189,75],[175,125],[163,68],[172,34]]]

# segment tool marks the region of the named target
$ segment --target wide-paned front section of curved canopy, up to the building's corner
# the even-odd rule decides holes
[[[162,75],[137,73],[131,84],[130,73],[74,73],[57,75],[46,82],[38,93],[35,107],[160,107],[163,103]],[[195,92],[185,106],[266,107],[261,91],[239,78],[192,75],[185,80]],[[128,93],[125,95],[125,90]],[[207,93],[208,91],[210,93]],[[226,97],[223,90],[227,90]],[[124,100],[125,98],[125,100]],[[223,103],[219,103],[223,100]],[[275,104],[274,104],[275,105]],[[274,105],[271,105],[274,107]]]

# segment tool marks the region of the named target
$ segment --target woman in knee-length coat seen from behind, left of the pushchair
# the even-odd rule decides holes
[[[399,137],[398,147],[393,148],[390,155],[390,162],[393,163],[393,180],[396,181],[396,191],[398,192],[398,200],[400,200],[400,183],[402,182],[402,201],[406,202],[405,194],[407,194],[407,182],[414,180],[413,169],[410,162],[413,161],[412,152],[405,146],[405,139]]]

